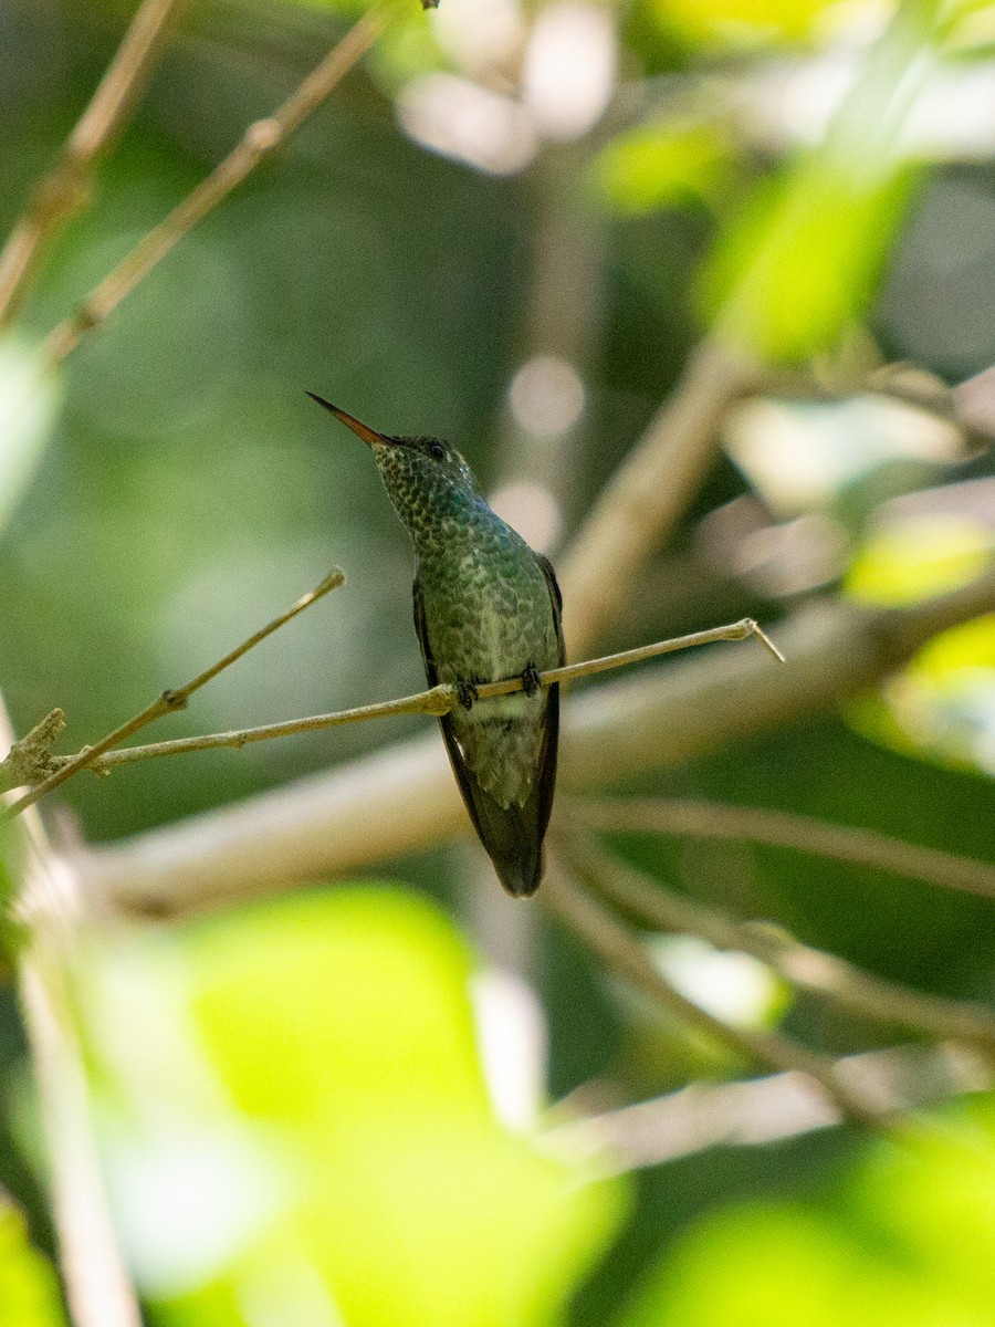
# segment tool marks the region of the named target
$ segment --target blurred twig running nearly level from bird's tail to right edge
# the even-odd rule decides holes
[[[811,816],[762,807],[731,807],[715,802],[585,798],[577,809],[594,829],[621,833],[659,833],[690,839],[739,840],[789,848],[886,871],[909,880],[925,880],[995,898],[995,867],[938,848],[890,839],[873,829],[834,825]]]

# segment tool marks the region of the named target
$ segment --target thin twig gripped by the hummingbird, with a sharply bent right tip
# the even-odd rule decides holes
[[[539,674],[539,685],[552,686],[555,682],[573,682],[577,678],[590,677],[594,673],[606,673],[609,669],[625,667],[629,664],[641,664],[643,660],[657,658],[661,654],[673,654],[675,650],[686,650],[696,645],[712,645],[716,641],[744,641],[754,636],[773,658],[781,664],[784,662],[784,656],[773,641],[760,629],[752,617],[744,617],[742,621],[732,622],[728,626],[712,626],[708,630],[694,632],[690,636],[678,636],[671,641],[655,641],[653,645],[641,645],[633,650],[622,650],[620,654],[605,654],[602,658],[586,660],[582,664],[568,664],[564,667],[549,669]],[[255,644],[255,638],[251,644]],[[202,677],[204,681],[207,679],[206,674]],[[476,687],[476,697],[478,701],[488,701],[496,695],[511,695],[513,691],[520,691],[521,689],[521,678],[509,677],[500,682],[482,683]],[[174,695],[178,693],[167,691],[165,694]],[[157,701],[155,703],[159,705],[161,702]],[[366,723],[370,719],[390,719],[402,714],[434,714],[439,717],[448,714],[456,705],[459,705],[456,687],[443,682],[429,691],[418,691],[415,695],[402,695],[395,701],[378,701],[375,705],[360,705],[352,710],[338,710],[336,714],[312,714],[302,719],[284,719],[281,723],[264,723],[253,729],[237,729],[233,733],[206,733],[202,736],[175,738],[171,742],[150,742],[147,746],[127,747],[123,751],[110,751],[107,746],[103,746],[103,751],[107,752],[106,755],[98,750],[102,746],[102,743],[98,743],[97,747],[89,747],[85,752],[81,751],[80,755],[72,756],[69,763],[74,768],[84,768],[86,766],[97,774],[106,774],[114,766],[134,764],[135,760],[188,755],[192,751],[216,751],[222,747],[244,747],[251,742],[269,742],[273,738],[293,736],[298,733],[318,733],[322,729],[338,729],[349,723]],[[175,707],[175,705],[170,706],[170,709]],[[154,706],[150,706],[143,714],[150,714],[153,709]],[[153,714],[153,718],[158,718],[162,713],[165,710],[158,710]],[[131,719],[130,722],[134,725],[137,719]],[[150,719],[145,722],[150,722]],[[143,727],[145,725],[139,726]],[[131,727],[130,731],[134,733],[135,729]],[[130,735],[123,729],[118,729],[115,734],[110,734],[114,738],[114,742],[110,743],[111,746],[117,746],[123,740],[122,733],[123,736]],[[103,742],[110,742],[110,739],[105,738]],[[86,759],[82,759],[84,756]],[[54,787],[54,775],[46,783]],[[41,796],[48,790],[42,784],[33,791],[37,796]],[[37,796],[32,798],[32,800],[37,800]],[[21,804],[29,804],[27,796],[11,808],[12,813]]]

